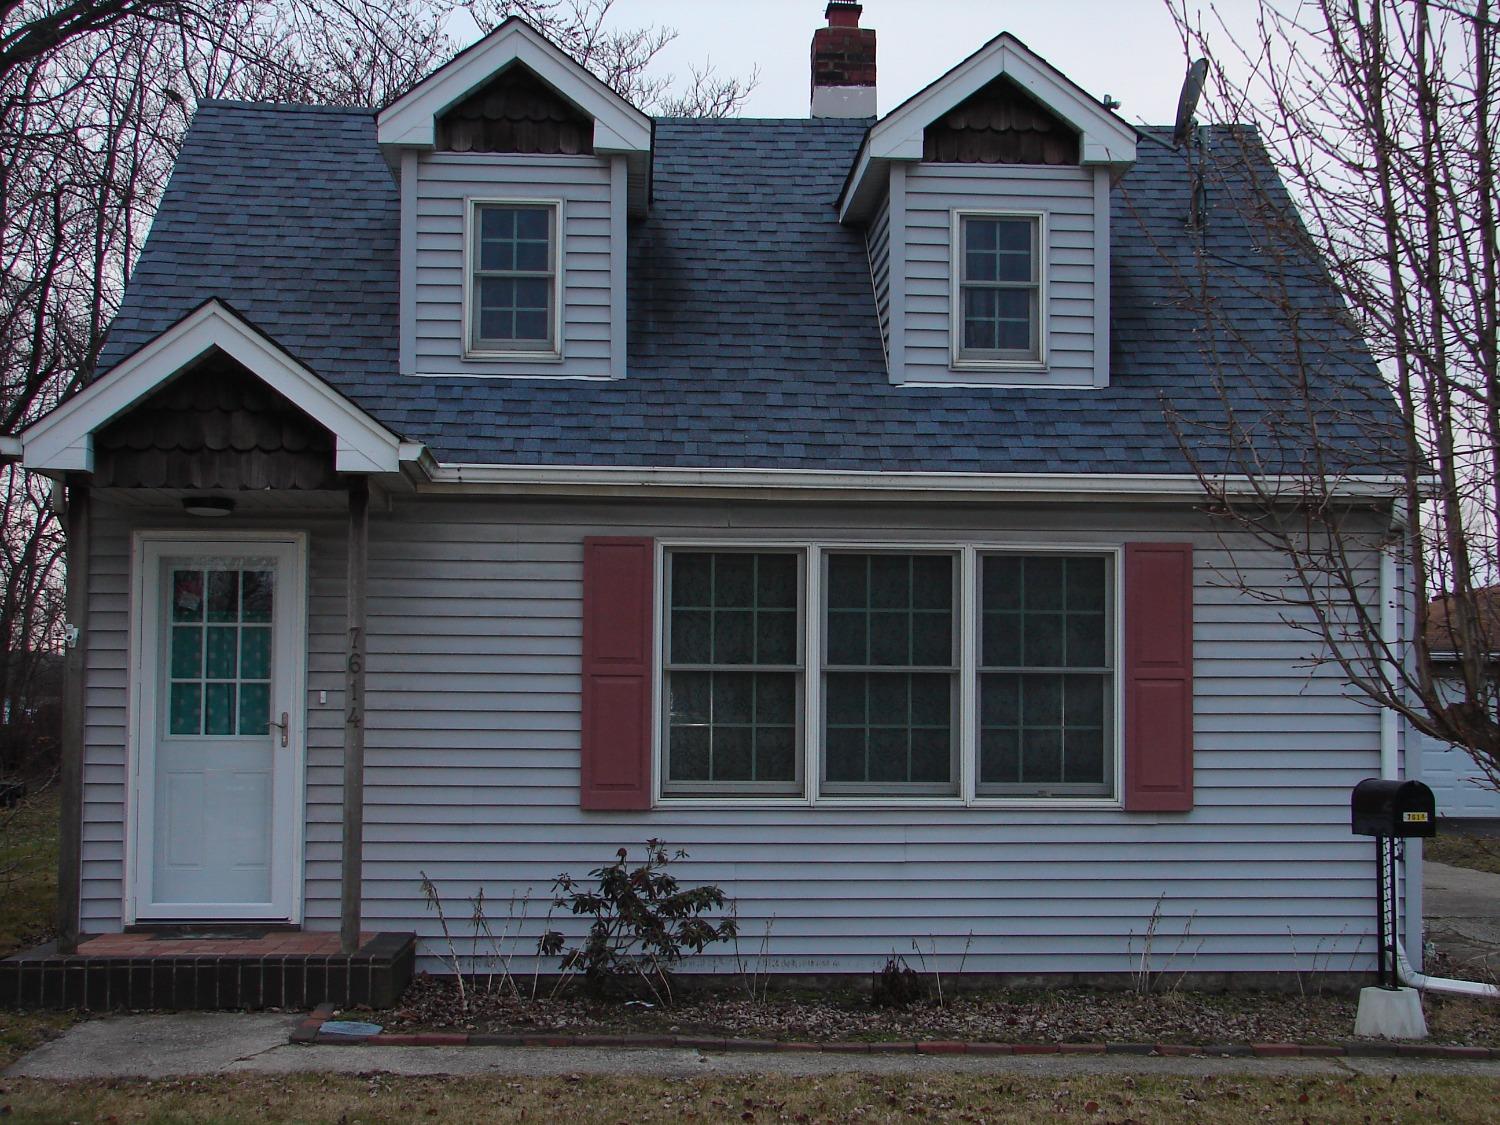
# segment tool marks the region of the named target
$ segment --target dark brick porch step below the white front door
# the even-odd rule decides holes
[[[40,945],[0,962],[0,1008],[387,1008],[411,982],[417,936],[363,938],[352,954],[339,952],[336,933],[232,942],[100,934],[75,954]]]

